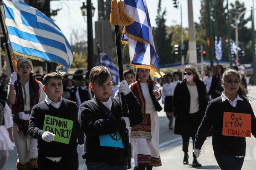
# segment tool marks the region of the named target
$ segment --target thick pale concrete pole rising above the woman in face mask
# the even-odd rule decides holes
[[[194,17],[193,17],[192,0],[188,0],[188,13],[189,13],[189,64],[197,68],[195,25],[194,25]]]

